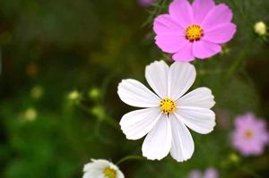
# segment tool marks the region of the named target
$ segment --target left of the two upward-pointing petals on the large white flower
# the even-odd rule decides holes
[[[159,97],[167,97],[167,79],[169,66],[163,61],[155,61],[146,66],[145,78]]]

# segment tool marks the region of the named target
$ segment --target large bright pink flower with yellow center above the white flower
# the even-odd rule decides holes
[[[161,14],[153,24],[155,43],[175,61],[204,59],[221,52],[221,44],[236,32],[232,12],[226,4],[213,0],[174,0],[169,14]]]

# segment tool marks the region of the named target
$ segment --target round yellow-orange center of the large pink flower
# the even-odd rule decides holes
[[[190,25],[186,29],[186,38],[193,42],[198,41],[204,35],[204,30],[199,25]]]

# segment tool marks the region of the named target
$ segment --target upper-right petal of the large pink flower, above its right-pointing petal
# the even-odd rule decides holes
[[[213,26],[230,22],[231,18],[232,12],[230,8],[226,4],[219,4],[207,13],[201,25],[204,30],[207,30],[213,28]]]

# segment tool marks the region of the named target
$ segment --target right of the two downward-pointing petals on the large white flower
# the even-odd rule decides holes
[[[195,151],[194,140],[187,127],[174,114],[169,115],[172,129],[171,156],[178,162],[186,161]]]

